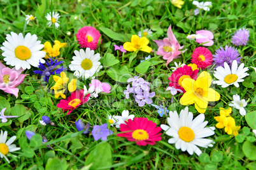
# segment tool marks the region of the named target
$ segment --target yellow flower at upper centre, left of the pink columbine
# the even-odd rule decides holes
[[[127,51],[137,51],[138,49],[141,51],[145,51],[146,53],[150,53],[152,48],[148,46],[148,39],[146,37],[141,37],[137,35],[132,35],[131,42],[124,43],[124,49]]]

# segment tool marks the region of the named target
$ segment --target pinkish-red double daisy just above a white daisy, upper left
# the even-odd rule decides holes
[[[99,41],[101,34],[94,27],[85,26],[78,30],[76,34],[76,39],[82,48],[90,48],[95,50]]]

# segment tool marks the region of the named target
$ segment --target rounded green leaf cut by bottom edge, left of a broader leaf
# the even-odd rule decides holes
[[[45,170],[65,170],[68,169],[68,165],[65,159],[49,158],[47,160]]]

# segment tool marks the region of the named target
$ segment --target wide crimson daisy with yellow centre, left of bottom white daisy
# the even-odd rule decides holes
[[[120,131],[125,133],[117,134],[117,136],[125,137],[129,141],[136,141],[137,145],[155,145],[155,141],[162,140],[160,127],[157,124],[148,121],[145,117],[135,117],[134,120],[129,119],[125,124],[120,124]]]

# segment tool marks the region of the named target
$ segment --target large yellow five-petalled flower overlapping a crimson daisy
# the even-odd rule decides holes
[[[181,105],[192,105],[195,103],[196,110],[204,114],[208,107],[208,101],[220,100],[220,94],[210,88],[211,75],[208,72],[201,72],[196,81],[190,78],[185,78],[181,82],[186,93],[181,97]]]

